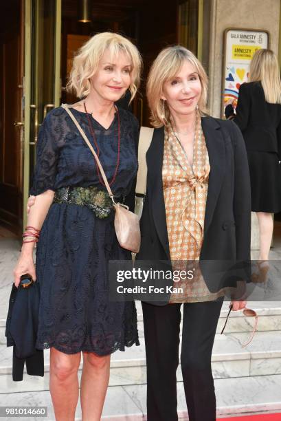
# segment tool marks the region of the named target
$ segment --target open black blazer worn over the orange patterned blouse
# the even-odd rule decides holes
[[[200,260],[249,261],[251,193],[243,136],[232,121],[209,116],[201,120],[210,176]],[[140,221],[142,242],[137,260],[170,261],[162,182],[163,155],[164,129],[161,127],[155,129],[146,153],[147,191]],[[214,285],[211,278],[207,287],[216,292],[221,285]]]

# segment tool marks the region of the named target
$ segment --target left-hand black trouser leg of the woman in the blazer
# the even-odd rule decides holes
[[[177,421],[181,304],[142,303],[147,369],[147,420]]]

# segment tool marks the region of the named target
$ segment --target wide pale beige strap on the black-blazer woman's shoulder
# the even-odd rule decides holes
[[[142,126],[139,131],[139,148],[138,161],[139,169],[137,171],[137,184],[135,186],[135,194],[141,197],[146,195],[146,179],[147,179],[147,165],[146,152],[153,140],[154,129]]]

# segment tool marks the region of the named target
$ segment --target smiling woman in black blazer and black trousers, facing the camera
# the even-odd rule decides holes
[[[148,76],[148,103],[155,132],[146,153],[147,193],[138,261],[171,259],[162,177],[165,142],[169,141],[166,131],[172,127],[177,132],[180,147],[194,169],[192,153],[198,114],[210,162],[199,259],[248,260],[250,257],[251,200],[245,143],[233,122],[204,113],[206,101],[207,76],[194,54],[181,46],[163,50]],[[183,198],[178,200],[180,206]],[[211,292],[217,289],[212,282],[207,286]],[[168,302],[169,299],[142,302],[148,421],[178,420],[176,371],[182,302]],[[181,371],[190,421],[216,420],[211,356],[222,303],[223,297],[183,303]],[[234,310],[239,310],[245,307],[245,301],[233,301],[233,305]]]

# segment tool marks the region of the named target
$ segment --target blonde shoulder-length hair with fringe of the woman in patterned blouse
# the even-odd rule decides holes
[[[167,125],[170,120],[170,110],[166,101],[161,99],[164,83],[174,78],[181,69],[184,61],[191,63],[199,75],[202,92],[198,102],[198,109],[201,116],[206,114],[207,104],[207,74],[200,61],[194,54],[181,45],[167,47],[162,50],[148,74],[146,94],[150,107],[150,122],[153,127]]]

